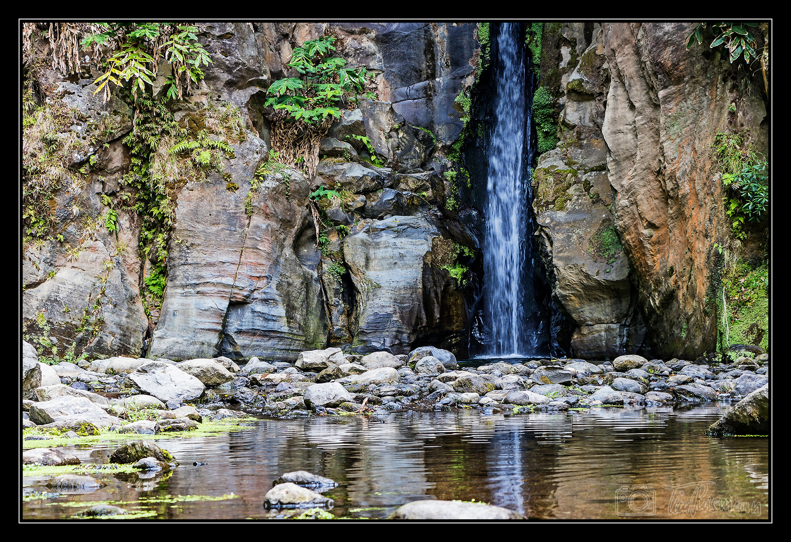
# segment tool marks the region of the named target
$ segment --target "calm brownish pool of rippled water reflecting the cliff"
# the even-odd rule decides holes
[[[107,484],[97,491],[25,500],[22,518],[71,518],[97,502],[161,519],[273,518],[263,508],[273,480],[307,470],[339,483],[324,493],[338,516],[387,518],[415,499],[475,499],[528,518],[766,520],[769,439],[703,435],[728,407],[260,420],[248,431],[157,441],[180,461],[170,476],[97,476]],[[118,446],[70,451],[103,463]],[[50,491],[47,480],[24,476],[23,493]]]

